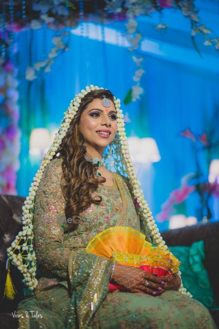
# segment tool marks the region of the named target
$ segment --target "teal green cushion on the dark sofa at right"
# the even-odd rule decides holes
[[[183,286],[208,309],[215,307],[208,272],[202,263],[205,258],[204,242],[194,242],[190,247],[169,247],[169,250],[181,261]]]

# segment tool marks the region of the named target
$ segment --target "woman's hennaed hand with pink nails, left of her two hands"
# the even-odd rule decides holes
[[[115,265],[111,282],[123,287],[126,291],[145,292],[152,296],[159,296],[165,290],[165,281],[160,277],[140,268],[118,263]]]

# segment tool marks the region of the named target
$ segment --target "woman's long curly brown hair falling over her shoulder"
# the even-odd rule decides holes
[[[80,212],[87,209],[91,203],[100,204],[102,197],[92,197],[97,190],[98,183],[106,182],[103,176],[96,176],[98,165],[86,161],[85,138],[78,129],[80,117],[95,98],[102,99],[103,96],[113,101],[113,94],[108,89],[94,90],[82,97],[76,115],[73,117],[70,127],[62,139],[62,142],[53,158],[62,158],[62,177],[66,184],[62,186],[62,192],[66,200],[66,218],[78,216]],[[59,155],[58,155],[59,154]],[[78,224],[70,223],[69,229],[75,230]]]

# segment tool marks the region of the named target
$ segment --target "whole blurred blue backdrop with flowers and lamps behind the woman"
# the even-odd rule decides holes
[[[205,123],[219,109],[218,35],[217,0],[2,0],[0,193],[27,195],[69,100],[93,83],[122,100],[132,156],[159,228],[177,214],[218,220],[218,184],[206,173],[201,181],[194,150],[179,135],[190,127],[210,141]],[[196,176],[178,191],[190,172]],[[175,213],[161,208],[171,191]]]

